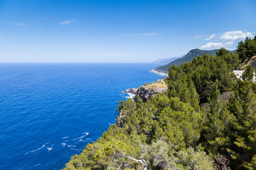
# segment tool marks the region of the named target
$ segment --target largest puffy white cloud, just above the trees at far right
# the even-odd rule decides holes
[[[243,31],[229,31],[225,32],[221,36],[222,41],[240,41],[245,39],[246,37],[251,37],[253,38],[253,34],[250,32],[243,32]]]

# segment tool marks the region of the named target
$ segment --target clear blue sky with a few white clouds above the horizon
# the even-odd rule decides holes
[[[256,1],[1,1],[0,62],[152,62],[236,49]]]

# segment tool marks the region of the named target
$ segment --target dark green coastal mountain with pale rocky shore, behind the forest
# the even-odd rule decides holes
[[[204,54],[208,54],[208,55],[213,54],[215,56],[217,51],[218,51],[218,49],[214,49],[214,50],[192,49],[184,57],[177,58],[177,59],[171,61],[170,63],[168,63],[167,65],[156,67],[154,70],[152,70],[152,72],[167,74],[168,73],[168,68],[171,65],[180,66],[181,64],[186,63],[188,61],[192,62],[194,57],[197,58],[198,56],[203,56]],[[236,50],[233,50],[233,51],[230,51],[230,52],[236,53]],[[156,61],[158,61],[158,60],[156,60]]]

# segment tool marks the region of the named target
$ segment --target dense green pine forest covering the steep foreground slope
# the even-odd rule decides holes
[[[72,156],[68,169],[256,169],[254,69],[233,70],[256,55],[256,36],[168,69],[168,90],[121,101],[123,128]],[[121,112],[121,113],[120,113]]]

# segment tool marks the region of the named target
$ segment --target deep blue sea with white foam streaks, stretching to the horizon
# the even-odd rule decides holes
[[[1,63],[0,169],[61,169],[115,124],[150,63]]]

